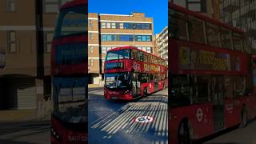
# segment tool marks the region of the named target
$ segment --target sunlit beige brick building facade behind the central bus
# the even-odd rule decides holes
[[[105,23],[105,27],[102,26]],[[120,24],[122,23],[122,24]],[[150,29],[125,28],[125,23],[129,24],[150,24]],[[114,26],[113,26],[114,25]],[[106,50],[118,46],[137,46],[150,53],[155,52],[153,48],[153,18],[146,18],[143,13],[124,14],[88,14],[88,65],[90,83],[102,83],[103,66],[106,57]],[[104,41],[104,35],[148,35],[149,42],[134,41]],[[118,39],[118,38],[117,38]]]

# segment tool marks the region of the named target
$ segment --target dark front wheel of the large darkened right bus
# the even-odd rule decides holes
[[[178,130],[178,144],[191,144],[188,122],[182,122]]]

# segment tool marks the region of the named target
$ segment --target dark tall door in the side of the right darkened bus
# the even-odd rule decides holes
[[[224,128],[224,91],[223,78],[212,78],[212,100],[214,110],[214,131],[219,131]]]

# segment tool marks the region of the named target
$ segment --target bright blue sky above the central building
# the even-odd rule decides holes
[[[131,14],[145,13],[154,18],[154,34],[168,25],[168,0],[89,0],[89,13]]]

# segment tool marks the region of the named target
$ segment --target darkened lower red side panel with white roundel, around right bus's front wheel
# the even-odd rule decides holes
[[[210,103],[174,108],[170,113],[170,131],[176,133],[171,133],[174,140],[178,139],[178,126],[184,118],[188,118],[192,126],[194,140],[214,133],[213,105]]]

